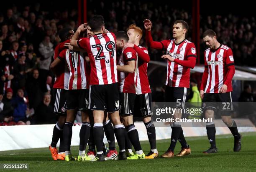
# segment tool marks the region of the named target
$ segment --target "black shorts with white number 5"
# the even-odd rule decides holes
[[[186,87],[169,87],[166,86],[164,92],[164,102],[172,102],[173,107],[184,108],[187,98]]]

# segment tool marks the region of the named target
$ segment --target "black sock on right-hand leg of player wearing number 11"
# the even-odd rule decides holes
[[[85,150],[89,136],[90,136],[91,125],[89,122],[82,122],[82,126],[79,132],[80,143],[79,150]]]

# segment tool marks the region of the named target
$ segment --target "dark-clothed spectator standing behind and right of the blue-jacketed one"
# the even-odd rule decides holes
[[[43,99],[44,92],[47,92],[46,83],[39,77],[37,69],[33,70],[33,76],[28,79],[26,91],[28,93],[30,108],[36,110],[36,107]]]

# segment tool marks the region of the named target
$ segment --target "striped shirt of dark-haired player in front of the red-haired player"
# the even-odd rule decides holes
[[[137,60],[137,53],[136,51],[131,48],[127,47],[123,52],[121,53],[119,60],[118,60],[118,65],[123,66],[127,65],[128,61],[131,60]],[[137,62],[136,62],[137,63]],[[137,73],[136,73],[136,67],[134,68],[133,73],[125,73],[125,72],[120,72],[120,87],[119,87],[119,92],[127,92],[127,93],[133,93],[136,94],[136,78],[137,78]]]

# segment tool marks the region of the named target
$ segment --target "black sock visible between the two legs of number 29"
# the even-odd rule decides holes
[[[110,120],[103,123],[104,132],[108,140],[109,150],[115,150],[115,133]]]

